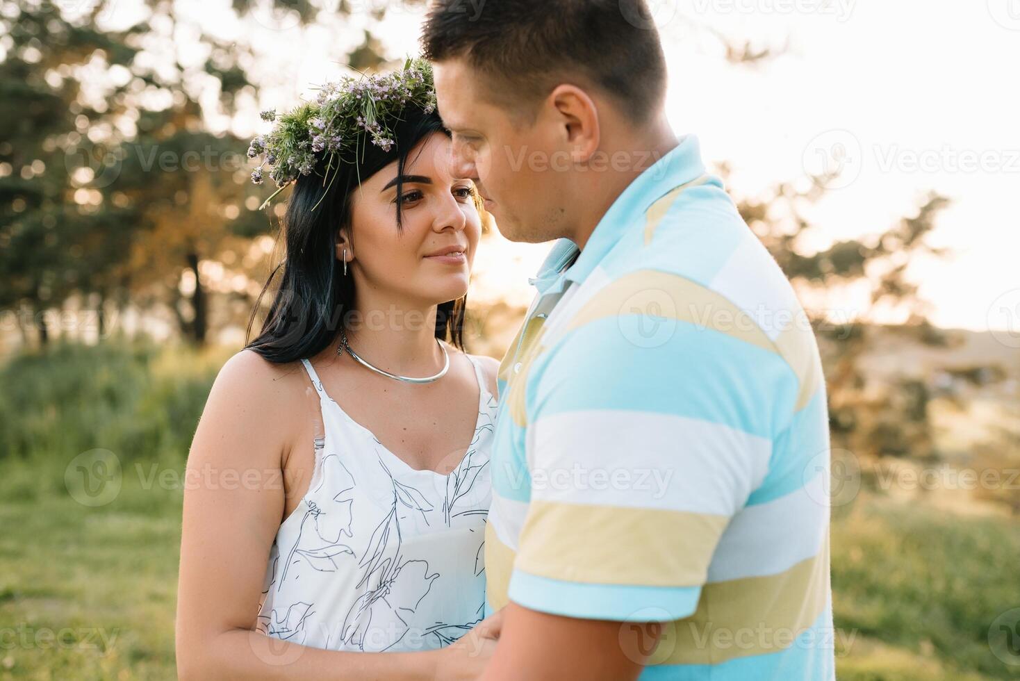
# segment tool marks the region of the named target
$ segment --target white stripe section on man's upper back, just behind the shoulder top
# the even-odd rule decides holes
[[[793,324],[807,321],[786,276],[751,232],[733,249],[709,287],[746,312],[770,340]]]

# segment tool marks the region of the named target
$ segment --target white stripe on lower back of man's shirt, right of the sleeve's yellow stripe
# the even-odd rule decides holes
[[[828,474],[766,504],[746,507],[729,521],[712,556],[708,581],[774,575],[816,556],[828,528]]]

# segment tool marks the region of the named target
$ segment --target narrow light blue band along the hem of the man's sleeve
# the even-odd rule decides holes
[[[695,612],[701,587],[581,584],[514,570],[510,576],[509,596],[519,606],[564,617],[670,622]]]

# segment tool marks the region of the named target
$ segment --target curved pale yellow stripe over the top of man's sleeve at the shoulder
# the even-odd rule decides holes
[[[568,328],[635,313],[688,322],[776,352],[754,318],[727,298],[686,277],[652,269],[624,274],[605,286],[574,315]]]

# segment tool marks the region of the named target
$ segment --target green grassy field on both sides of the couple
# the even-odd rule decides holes
[[[173,481],[227,356],[62,347],[0,369],[0,680],[174,678]],[[122,482],[88,507],[65,470],[97,448]],[[987,642],[1020,607],[1015,522],[862,493],[834,509],[831,545],[842,681],[1018,676]]]

